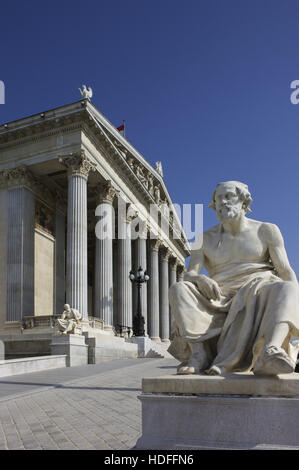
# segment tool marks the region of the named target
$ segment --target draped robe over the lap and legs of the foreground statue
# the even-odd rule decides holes
[[[220,301],[208,300],[189,281],[170,289],[173,336],[168,351],[185,362],[188,343],[203,341],[210,365],[225,372],[250,370],[263,345],[265,332],[280,322],[289,324],[281,347],[296,361],[299,338],[299,288],[282,281],[267,263],[231,263],[211,273],[222,292]]]

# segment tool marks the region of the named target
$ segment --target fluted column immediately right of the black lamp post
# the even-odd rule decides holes
[[[150,240],[150,270],[149,270],[149,325],[150,337],[160,341],[159,336],[159,247],[161,241]]]

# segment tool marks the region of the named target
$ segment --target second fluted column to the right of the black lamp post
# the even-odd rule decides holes
[[[160,250],[160,316],[161,316],[161,340],[169,341],[169,301],[168,301],[168,259],[170,251],[162,246]]]

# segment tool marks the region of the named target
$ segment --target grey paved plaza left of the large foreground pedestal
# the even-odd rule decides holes
[[[123,359],[0,379],[0,450],[126,450],[141,434],[142,377],[175,359]]]

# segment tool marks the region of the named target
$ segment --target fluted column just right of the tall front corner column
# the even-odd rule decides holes
[[[96,225],[95,249],[95,316],[105,322],[105,329],[113,325],[113,199],[116,189],[107,181],[98,191],[95,215],[101,219]]]

